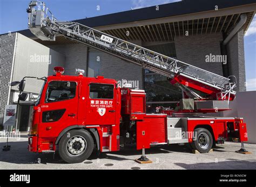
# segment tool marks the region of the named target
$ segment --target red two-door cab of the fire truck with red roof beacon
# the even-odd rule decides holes
[[[121,107],[117,81],[103,76],[66,76],[63,71],[57,67],[56,75],[47,77],[33,106],[29,150],[55,152],[65,140],[67,155],[75,158],[83,155],[83,147],[90,149],[89,155],[93,147],[101,152],[119,150]],[[74,135],[77,131],[82,135]],[[83,134],[89,138],[86,140]]]

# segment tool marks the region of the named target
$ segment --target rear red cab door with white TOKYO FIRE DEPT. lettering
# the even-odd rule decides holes
[[[115,84],[89,82],[86,125],[116,124]]]

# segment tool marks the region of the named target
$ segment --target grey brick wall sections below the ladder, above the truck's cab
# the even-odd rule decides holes
[[[131,41],[141,45],[141,41]],[[86,70],[87,47],[81,44],[48,46],[66,56],[65,75],[75,75],[75,68]],[[115,80],[139,81],[139,89],[143,88],[142,68],[118,57],[100,52],[100,74]]]

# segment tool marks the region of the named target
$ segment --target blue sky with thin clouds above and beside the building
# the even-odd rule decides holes
[[[45,0],[58,20],[76,20],[179,0]],[[28,0],[0,0],[0,34],[27,28]],[[99,10],[97,10],[99,6]],[[247,91],[256,90],[256,17],[244,38]]]

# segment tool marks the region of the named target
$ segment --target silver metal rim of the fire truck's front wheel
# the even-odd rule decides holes
[[[66,150],[72,156],[82,155],[87,147],[87,142],[82,136],[73,136],[66,143]]]

